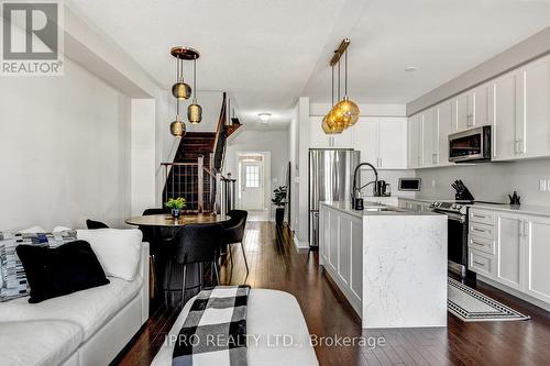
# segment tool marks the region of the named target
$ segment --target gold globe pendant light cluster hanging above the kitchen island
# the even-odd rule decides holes
[[[334,51],[334,56],[330,60],[332,70],[331,93],[332,109],[322,119],[322,131],[326,134],[342,133],[345,129],[354,125],[359,120],[360,110],[358,104],[348,98],[348,46],[350,38],[345,38],[340,43],[340,46]],[[344,56],[344,96],[340,99],[340,59]],[[334,67],[338,69],[338,86],[337,86],[337,103],[334,104]]]

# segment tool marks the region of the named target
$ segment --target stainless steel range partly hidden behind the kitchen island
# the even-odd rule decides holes
[[[435,201],[433,212],[448,218],[448,259],[449,270],[462,278],[473,273],[468,271],[468,206],[472,201]],[[472,275],[471,275],[472,274]]]

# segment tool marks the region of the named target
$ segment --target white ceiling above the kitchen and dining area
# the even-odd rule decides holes
[[[200,51],[200,90],[234,95],[244,123],[280,126],[297,97],[330,100],[343,37],[349,91],[405,103],[550,25],[550,0],[70,0],[163,86],[173,45]],[[417,71],[405,73],[407,66]]]

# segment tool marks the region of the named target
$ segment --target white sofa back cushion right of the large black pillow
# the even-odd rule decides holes
[[[140,230],[78,230],[77,236],[90,243],[107,276],[134,279],[143,239]]]

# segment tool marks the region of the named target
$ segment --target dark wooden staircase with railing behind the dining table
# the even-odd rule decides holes
[[[179,142],[174,162],[162,164],[166,178],[163,202],[183,197],[187,201],[186,212],[212,212],[217,206],[219,209],[220,195],[227,193],[224,187],[230,181],[219,174],[223,169],[227,138],[241,126],[238,120],[231,124],[227,121],[227,96],[223,93],[216,132],[188,132]]]

